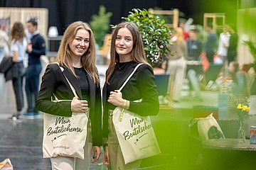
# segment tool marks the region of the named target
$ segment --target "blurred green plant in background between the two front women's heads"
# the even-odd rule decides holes
[[[101,47],[103,45],[103,38],[105,34],[110,30],[110,17],[112,12],[106,13],[106,8],[100,6],[98,15],[92,15],[92,21],[89,22],[92,28],[93,34],[95,35],[95,41]]]

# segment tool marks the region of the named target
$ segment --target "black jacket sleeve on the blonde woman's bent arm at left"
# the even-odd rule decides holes
[[[56,65],[54,67],[54,65]],[[50,113],[53,115],[71,116],[71,100],[70,101],[51,101],[53,92],[57,89],[57,79],[62,76],[62,72],[58,70],[57,64],[49,64],[46,72],[42,77],[41,89],[36,101],[36,108],[38,111]],[[58,98],[63,100],[65,98]],[[66,98],[67,99],[67,98]],[[68,98],[70,99],[70,98]]]

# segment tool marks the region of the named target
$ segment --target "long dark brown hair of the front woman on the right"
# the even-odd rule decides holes
[[[133,22],[123,22],[119,23],[112,32],[111,46],[110,46],[110,66],[107,69],[106,73],[106,82],[109,83],[109,79],[114,72],[115,64],[119,62],[119,55],[115,50],[115,41],[117,39],[117,33],[120,28],[127,28],[132,33],[133,47],[131,51],[131,57],[134,62],[149,64],[146,61],[146,56],[144,52],[144,46],[142,42],[142,36],[139,33],[139,28]]]

